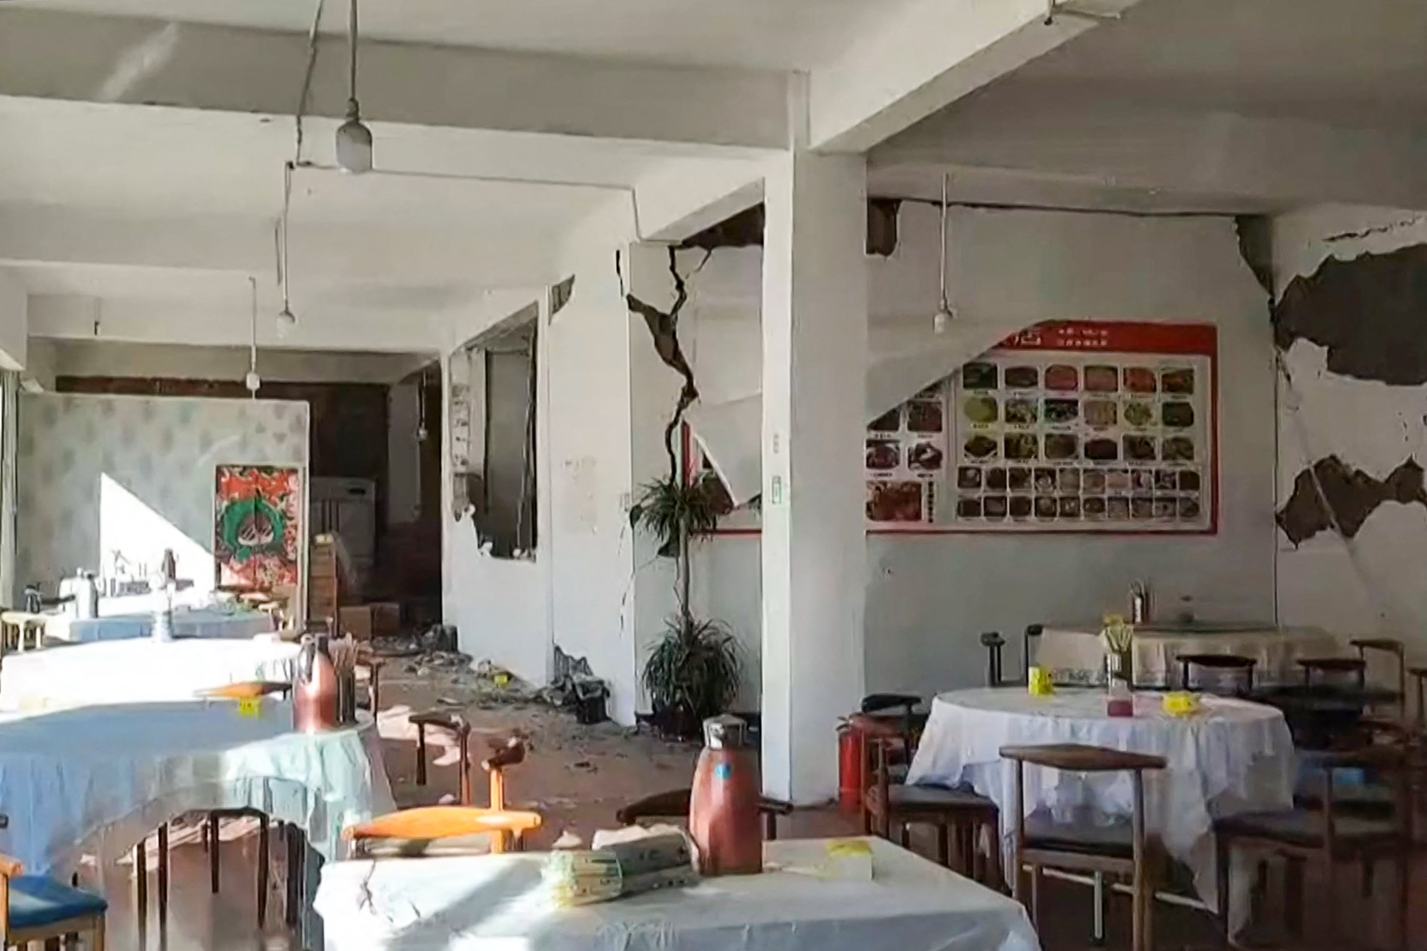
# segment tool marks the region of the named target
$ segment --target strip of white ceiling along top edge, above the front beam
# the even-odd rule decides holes
[[[407,43],[662,63],[806,70],[906,0],[364,0],[362,36]],[[10,0],[46,7],[305,33],[317,0]],[[341,33],[347,1],[327,0]]]

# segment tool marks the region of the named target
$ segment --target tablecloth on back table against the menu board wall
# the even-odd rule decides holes
[[[1334,657],[1337,639],[1317,627],[1263,624],[1203,624],[1194,630],[1140,627],[1134,632],[1134,682],[1164,686],[1180,683],[1180,654],[1240,654],[1259,662],[1256,684],[1300,683],[1299,657]],[[1104,649],[1097,624],[1046,627],[1035,663],[1055,672],[1057,680],[1103,679]]]

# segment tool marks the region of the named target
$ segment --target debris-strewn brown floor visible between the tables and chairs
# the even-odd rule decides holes
[[[384,684],[380,717],[384,757],[398,804],[418,806],[441,801],[457,791],[457,750],[440,731],[428,734],[431,760],[428,783],[415,784],[415,730],[407,714],[437,706],[441,697],[471,700],[454,682],[418,682],[414,677],[391,677]],[[614,824],[615,810],[631,800],[654,791],[686,786],[692,776],[696,750],[664,743],[648,736],[631,736],[612,724],[581,727],[562,713],[537,704],[498,706],[477,700],[467,714],[479,736],[502,740],[512,734],[529,743],[531,756],[508,774],[508,798],[517,807],[541,811],[547,824],[535,837],[534,847],[552,843],[564,831],[572,831],[588,841],[591,833]],[[481,704],[489,709],[482,709]],[[484,749],[472,744],[474,759]],[[478,767],[477,767],[478,768]],[[482,774],[477,773],[477,801],[484,801]],[[832,810],[799,811],[782,827],[786,837],[821,837],[858,833],[858,823]],[[173,845],[173,884],[168,925],[157,927],[150,911],[148,925],[140,931],[134,915],[133,888],[116,888],[110,894],[108,944],[116,951],[131,948],[160,948],[164,951],[237,951],[263,948],[287,951],[295,947],[283,927],[283,854],[274,844],[274,877],[268,904],[268,924],[258,931],[255,922],[255,854],[257,837],[251,823],[234,823],[224,830],[223,888],[210,894],[207,855],[195,834],[176,833]],[[929,838],[915,837],[913,848],[930,855]],[[150,864],[153,864],[153,847]],[[150,873],[153,874],[153,873]],[[114,875],[121,880],[121,875]],[[1414,875],[1413,948],[1427,948],[1427,861],[1420,861]],[[1329,897],[1324,883],[1309,888],[1307,934],[1324,935],[1314,944],[1291,942],[1283,938],[1281,914],[1270,888],[1261,921],[1249,932],[1250,944],[1280,948],[1344,947],[1330,940],[1329,925],[1337,924],[1343,934],[1354,935],[1363,947],[1390,947],[1387,931],[1390,918],[1391,875],[1383,868],[1371,900],[1361,897],[1356,870],[1344,867]],[[150,878],[150,905],[154,883]],[[1043,890],[1042,941],[1045,951],[1089,951],[1090,891],[1086,887],[1047,881]],[[1109,910],[1110,948],[1129,948],[1129,901],[1114,898]],[[1159,904],[1156,907],[1156,948],[1216,947],[1212,921],[1204,913]],[[1264,941],[1264,938],[1271,941]],[[1357,945],[1351,945],[1357,947]]]

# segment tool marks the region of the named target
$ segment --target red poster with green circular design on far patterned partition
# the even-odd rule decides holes
[[[303,550],[303,473],[284,466],[220,465],[213,555],[218,585],[295,587]]]

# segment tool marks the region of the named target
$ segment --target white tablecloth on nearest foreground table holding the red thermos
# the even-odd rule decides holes
[[[776,841],[765,857],[813,867],[826,841]],[[323,868],[328,951],[1037,951],[1010,898],[876,840],[873,881],[788,871],[554,910],[544,855],[388,858]]]

